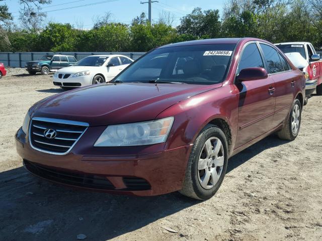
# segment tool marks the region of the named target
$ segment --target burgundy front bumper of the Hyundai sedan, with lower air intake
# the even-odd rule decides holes
[[[32,149],[21,129],[16,134],[17,152],[31,173],[67,186],[137,196],[180,190],[192,148],[144,155],[86,155],[73,151],[80,143],[82,139],[70,153],[57,156]]]

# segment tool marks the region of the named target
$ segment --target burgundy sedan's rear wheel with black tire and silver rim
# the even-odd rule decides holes
[[[280,139],[293,141],[297,137],[301,126],[301,111],[301,103],[295,99],[283,129],[277,133]]]

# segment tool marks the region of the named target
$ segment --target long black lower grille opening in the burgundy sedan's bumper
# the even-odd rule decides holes
[[[113,190],[115,187],[104,176],[57,170],[24,160],[28,171],[42,178],[77,187]]]

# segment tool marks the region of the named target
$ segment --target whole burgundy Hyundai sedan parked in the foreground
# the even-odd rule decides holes
[[[301,71],[264,40],[170,44],[110,83],[35,103],[17,151],[28,171],[53,182],[207,199],[229,157],[274,132],[296,138],[304,86]]]

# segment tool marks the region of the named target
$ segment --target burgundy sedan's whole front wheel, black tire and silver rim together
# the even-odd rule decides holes
[[[215,195],[227,169],[228,148],[224,133],[208,126],[197,137],[191,151],[183,188],[185,196],[206,200]]]

